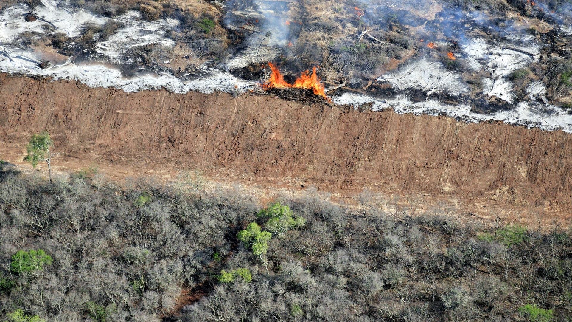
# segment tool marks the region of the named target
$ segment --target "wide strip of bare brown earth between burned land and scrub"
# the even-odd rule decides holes
[[[14,163],[30,134],[47,130],[60,167],[97,166],[113,178],[196,170],[253,189],[315,186],[347,203],[368,189],[504,222],[572,218],[572,140],[562,131],[6,75],[0,126],[0,158]]]

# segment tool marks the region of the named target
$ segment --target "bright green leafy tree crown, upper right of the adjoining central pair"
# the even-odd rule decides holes
[[[268,218],[264,224],[265,229],[279,238],[284,237],[286,231],[304,226],[306,219],[296,216],[288,206],[283,206],[279,202],[274,203],[267,209],[260,210],[259,218]]]

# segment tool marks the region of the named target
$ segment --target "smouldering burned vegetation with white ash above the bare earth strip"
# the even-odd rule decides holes
[[[264,93],[256,85],[268,82],[273,63],[285,76],[317,68],[330,98],[437,101],[448,111],[463,105],[491,115],[521,103],[529,114],[545,115],[572,106],[569,2],[37,0],[19,6],[29,12],[15,19],[45,23],[10,36],[10,50],[30,48],[42,69],[97,62],[125,78],[152,74],[176,83],[230,73],[223,83],[236,77],[249,86],[221,85],[224,91]],[[53,13],[42,15],[50,10],[69,14],[76,29],[61,26]],[[415,81],[400,81],[405,74]],[[284,92],[287,99],[296,95]]]

